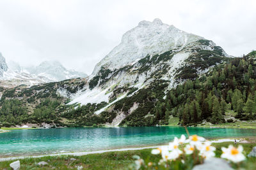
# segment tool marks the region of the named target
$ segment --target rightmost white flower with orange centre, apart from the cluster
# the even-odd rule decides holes
[[[241,162],[242,160],[245,160],[245,157],[243,155],[243,146],[239,145],[238,148],[229,145],[228,148],[221,148],[222,155],[221,158],[231,160],[232,162]]]

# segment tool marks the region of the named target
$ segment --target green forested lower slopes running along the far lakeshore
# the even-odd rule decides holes
[[[189,75],[189,69],[187,69]],[[190,74],[191,75],[191,74]],[[230,58],[199,76],[177,78],[180,83],[168,90],[168,80],[154,80],[143,89],[126,89],[126,97],[109,106],[99,115],[95,111],[108,103],[65,105],[68,97],[56,93],[59,87],[72,92],[83,89],[83,80],[48,83],[31,89],[1,89],[0,122],[4,126],[19,124],[54,124],[58,126],[104,125],[125,115],[120,125],[167,125],[179,117],[180,125],[202,122],[219,124],[227,110],[240,120],[256,119],[256,52]],[[124,90],[124,89],[119,89]],[[118,89],[115,90],[116,96]],[[114,94],[115,94],[114,92]]]

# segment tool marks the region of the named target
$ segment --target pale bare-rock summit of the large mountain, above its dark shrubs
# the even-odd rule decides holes
[[[148,54],[182,48],[199,39],[204,38],[180,31],[173,25],[163,24],[158,18],[153,22],[143,20],[122,36],[121,43],[95,66],[93,74],[97,74],[102,66],[108,69],[122,67]]]

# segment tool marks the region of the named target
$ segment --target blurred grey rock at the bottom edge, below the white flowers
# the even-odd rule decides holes
[[[193,167],[193,170],[232,170],[228,162],[220,158],[211,158],[205,160],[204,164]]]

